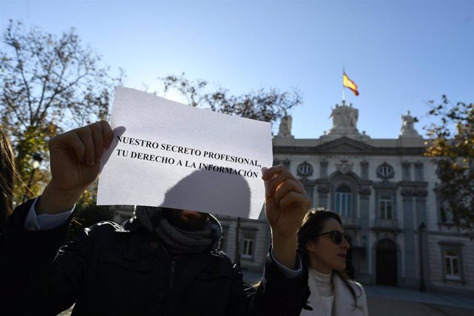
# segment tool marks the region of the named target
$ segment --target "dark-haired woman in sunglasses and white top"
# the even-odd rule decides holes
[[[350,237],[339,215],[324,209],[308,212],[298,231],[298,248],[311,291],[302,316],[368,315],[363,287],[344,273]]]

